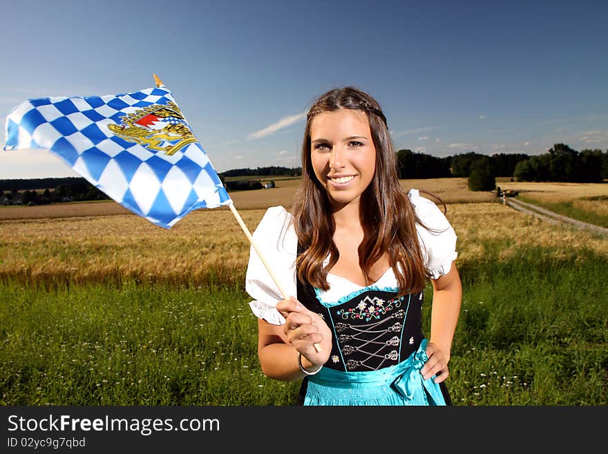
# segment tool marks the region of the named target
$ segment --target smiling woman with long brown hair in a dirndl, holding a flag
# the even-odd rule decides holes
[[[254,240],[292,296],[254,249],[247,268],[265,375],[303,379],[305,405],[450,404],[456,235],[434,202],[399,185],[386,117],[367,93],[336,88],[310,108],[291,211],[269,208]]]

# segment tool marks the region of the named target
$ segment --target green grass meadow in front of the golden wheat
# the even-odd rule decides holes
[[[459,267],[455,405],[608,403],[608,259],[522,247]],[[245,269],[237,270],[244,282]],[[238,274],[238,273],[237,273]],[[239,279],[237,279],[239,281]],[[267,379],[243,285],[0,282],[0,404],[283,406]],[[430,322],[432,287],[424,305]]]

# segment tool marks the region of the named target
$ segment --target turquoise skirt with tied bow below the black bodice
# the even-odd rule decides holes
[[[439,384],[425,380],[420,369],[426,356],[427,339],[418,350],[395,366],[365,372],[343,372],[321,368],[307,377],[304,405],[446,405]]]

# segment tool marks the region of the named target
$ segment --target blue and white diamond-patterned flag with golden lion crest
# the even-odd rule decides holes
[[[169,229],[232,200],[171,92],[28,100],[6,117],[5,150],[48,149],[133,213]]]

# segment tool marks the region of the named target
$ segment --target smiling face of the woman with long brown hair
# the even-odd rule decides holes
[[[365,112],[341,108],[317,114],[310,124],[310,156],[334,207],[359,203],[376,171],[376,147]]]

